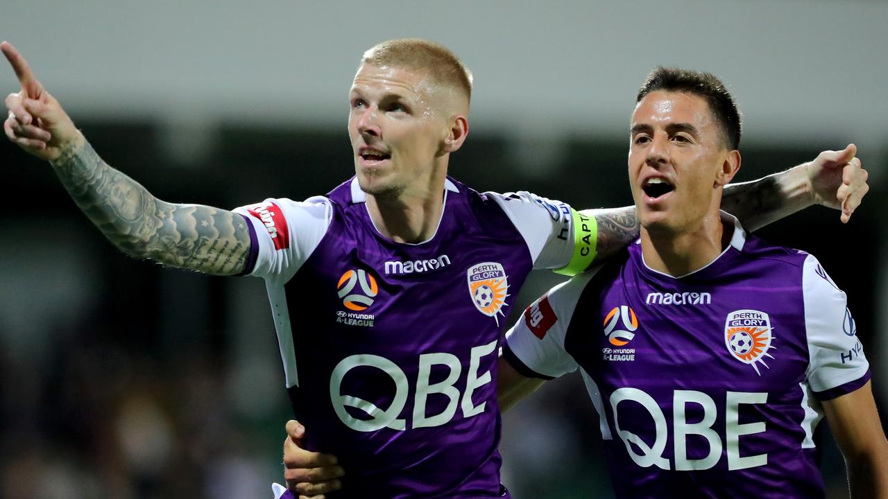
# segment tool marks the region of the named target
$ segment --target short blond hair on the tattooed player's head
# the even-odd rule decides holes
[[[464,92],[472,100],[472,71],[441,44],[422,38],[398,38],[376,44],[364,52],[361,64],[421,69],[439,83]]]

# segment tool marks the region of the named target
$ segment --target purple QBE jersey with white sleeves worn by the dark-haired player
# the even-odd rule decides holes
[[[820,401],[869,379],[855,332],[816,258],[736,225],[694,273],[634,244],[552,289],[503,355],[526,376],[580,369],[620,497],[822,497]]]

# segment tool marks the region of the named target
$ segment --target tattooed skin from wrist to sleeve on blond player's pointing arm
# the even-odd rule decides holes
[[[240,215],[156,199],[88,142],[70,145],[52,166],[77,206],[128,255],[217,275],[243,271],[250,233]]]

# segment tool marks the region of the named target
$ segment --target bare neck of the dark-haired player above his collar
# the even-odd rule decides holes
[[[641,228],[641,254],[657,272],[680,277],[709,265],[731,242],[733,226],[710,212],[698,226],[684,232]]]

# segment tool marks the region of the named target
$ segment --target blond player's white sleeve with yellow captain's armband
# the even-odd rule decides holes
[[[591,265],[598,240],[594,217],[564,202],[525,191],[485,194],[496,201],[524,237],[535,269],[575,275]]]

